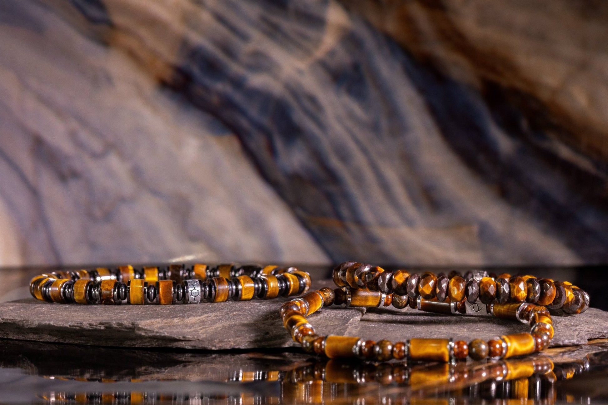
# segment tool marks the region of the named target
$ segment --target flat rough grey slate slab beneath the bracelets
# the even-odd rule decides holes
[[[282,300],[171,306],[60,305],[24,299],[0,303],[0,338],[100,346],[201,349],[295,345],[278,319]],[[321,334],[400,341],[408,338],[491,339],[528,331],[492,317],[442,316],[417,310],[323,308],[309,317]],[[608,312],[554,316],[554,346],[608,338]]]

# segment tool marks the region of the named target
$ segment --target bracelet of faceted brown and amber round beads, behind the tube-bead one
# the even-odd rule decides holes
[[[483,273],[483,274],[482,274]],[[475,277],[481,274],[481,277]],[[511,277],[510,274],[485,274],[466,272],[464,278],[452,271],[437,277],[431,272],[422,275],[406,270],[385,271],[381,267],[354,261],[346,261],[333,271],[333,280],[339,287],[366,288],[383,294],[420,296],[430,300],[483,304],[528,302],[547,306],[550,310],[562,310],[567,314],[579,314],[589,308],[589,294],[569,282],[536,279],[533,275]]]

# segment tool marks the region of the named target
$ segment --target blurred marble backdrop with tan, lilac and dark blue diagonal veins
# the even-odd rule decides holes
[[[608,5],[510,3],[0,2],[0,262],[607,261]]]

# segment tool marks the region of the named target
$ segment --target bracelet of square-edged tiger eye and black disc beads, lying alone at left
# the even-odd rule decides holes
[[[278,266],[127,265],[36,275],[30,293],[57,303],[169,305],[296,296],[308,291],[310,284],[307,272]]]

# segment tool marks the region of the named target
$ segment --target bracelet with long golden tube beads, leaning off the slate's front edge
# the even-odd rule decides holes
[[[357,274],[359,279],[354,279],[354,275],[361,266],[366,267],[373,277],[368,277],[365,272],[359,272]],[[429,295],[427,295],[429,299],[418,294],[401,296],[395,292],[392,294],[384,292],[386,290],[382,286],[383,281],[381,277],[383,273],[384,271],[381,268],[371,268],[371,266],[361,265],[361,263],[353,265],[347,262],[338,266],[334,270],[334,280],[340,288],[322,288],[319,291],[308,292],[308,294],[302,297],[285,303],[280,310],[283,325],[289,331],[292,338],[296,342],[299,342],[305,351],[310,353],[324,354],[329,358],[355,357],[376,361],[408,358],[413,360],[452,362],[456,359],[465,359],[467,356],[470,356],[474,360],[482,360],[488,357],[503,359],[541,351],[548,346],[551,338],[553,338],[553,321],[547,308],[528,302],[494,302],[487,305],[478,305],[477,302],[473,302],[473,305],[485,308],[493,316],[517,320],[523,324],[529,323],[531,325],[530,333],[509,334],[491,339],[488,342],[482,339],[475,339],[467,344],[465,341],[454,342],[452,339],[410,339],[406,342],[396,342],[393,344],[387,340],[375,342],[347,336],[318,336],[316,334],[312,325],[308,323],[306,316],[315,313],[322,306],[330,306],[332,304],[376,307],[389,306],[392,303],[396,308],[404,308],[408,303],[410,306],[412,306],[412,303],[415,303],[416,308],[430,312],[446,314],[466,313],[466,302],[469,301],[465,297],[462,297],[459,302],[452,302],[447,297],[443,297],[444,301],[440,302],[437,300],[435,285],[433,285],[434,294],[426,291],[426,284],[423,286],[423,292],[425,294],[429,292]],[[430,275],[430,273],[427,274]],[[432,277],[435,276],[432,275]],[[452,279],[455,277],[452,277]],[[514,277],[514,279],[516,278]],[[366,289],[363,286],[357,285],[357,282],[365,279],[368,279],[368,281],[364,283],[364,286],[373,285],[375,280],[376,285],[378,285],[376,290],[380,291],[373,291],[372,289]],[[482,277],[481,280],[483,279]],[[348,280],[349,286],[343,286],[347,283],[345,280]],[[384,282],[387,282],[387,280],[384,279]],[[356,288],[350,286],[353,283],[356,285]],[[409,278],[405,277],[402,283],[409,285]],[[399,283],[399,285],[402,283]],[[420,292],[420,284],[420,282],[416,282],[416,289],[410,291]],[[575,289],[582,291],[578,288],[572,288],[570,285],[567,285],[567,287],[571,294],[573,294],[572,291]],[[553,302],[555,300],[561,301],[561,297],[557,295],[553,298]],[[573,297],[582,297],[584,295],[586,295],[586,292],[584,294],[573,294]],[[573,297],[571,297],[572,300],[575,299]],[[583,306],[586,305],[582,305],[579,308],[581,311]]]

